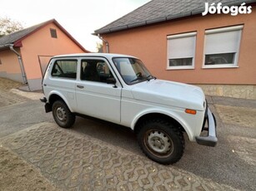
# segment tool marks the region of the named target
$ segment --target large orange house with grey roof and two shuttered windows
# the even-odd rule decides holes
[[[205,2],[214,14],[202,15]],[[255,23],[255,0],[152,0],[95,34],[105,50],[138,56],[158,78],[256,99]]]

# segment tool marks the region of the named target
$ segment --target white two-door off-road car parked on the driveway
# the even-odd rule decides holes
[[[69,128],[76,115],[131,128],[148,158],[161,164],[181,159],[183,132],[191,141],[215,146],[215,119],[197,86],[162,81],[143,62],[117,54],[54,56],[43,77],[46,112]],[[208,125],[206,124],[208,121]],[[202,136],[201,131],[208,135]]]

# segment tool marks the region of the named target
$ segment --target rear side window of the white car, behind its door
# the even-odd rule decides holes
[[[52,76],[76,79],[77,78],[77,60],[59,60],[53,64]]]

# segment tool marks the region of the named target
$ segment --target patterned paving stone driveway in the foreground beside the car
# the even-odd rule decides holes
[[[33,125],[1,144],[63,190],[233,190],[53,123]]]

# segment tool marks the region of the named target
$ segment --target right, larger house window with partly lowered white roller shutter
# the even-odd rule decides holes
[[[204,66],[237,66],[243,26],[223,27],[205,32]]]

